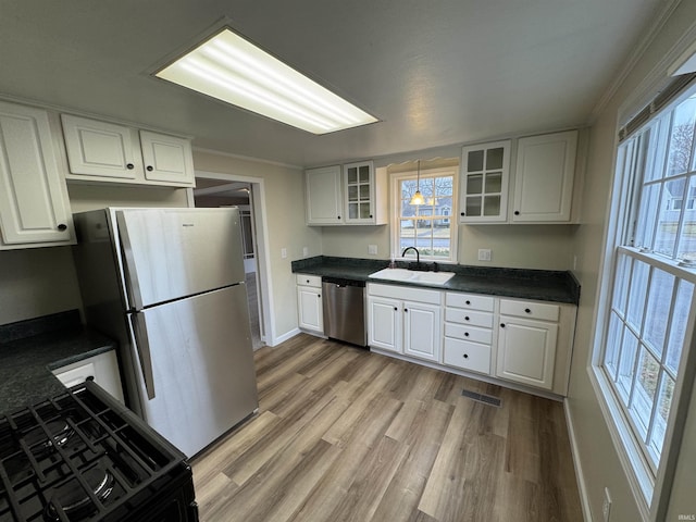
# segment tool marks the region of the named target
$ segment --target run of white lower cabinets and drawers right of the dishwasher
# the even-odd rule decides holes
[[[568,394],[574,304],[368,284],[368,344],[495,382]]]

